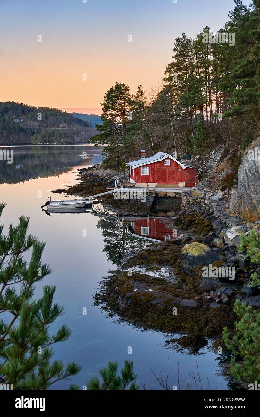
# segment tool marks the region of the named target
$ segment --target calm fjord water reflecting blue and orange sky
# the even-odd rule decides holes
[[[169,355],[169,385],[177,385],[177,364],[181,389],[186,389],[189,373],[197,375],[199,368],[202,387],[226,389],[227,381],[219,375],[216,354],[204,348],[199,355],[165,349],[165,341],[173,334],[162,334],[135,327],[119,319],[107,317],[106,312],[93,306],[93,295],[99,289],[103,276],[116,269],[117,252],[109,254],[106,222],[93,214],[52,214],[41,211],[48,195],[52,199],[71,198],[66,194],[50,193],[50,190],[66,188],[78,182],[78,168],[92,166],[101,161],[102,148],[94,146],[17,146],[13,149],[13,163],[0,161],[0,201],[7,206],[1,223],[8,232],[10,223],[17,224],[19,216],[30,217],[29,233],[46,242],[43,262],[50,264],[52,273],[37,284],[35,297],[42,294],[45,284],[56,286],[55,302],[64,306],[64,314],[50,326],[54,333],[62,324],[73,331],[66,342],[54,345],[54,359],[63,363],[76,361],[81,372],[70,382],[80,389],[98,369],[111,361],[124,364],[125,359],[134,361],[138,384],[146,389],[161,389],[151,372],[166,377]],[[83,152],[87,158],[83,158]],[[42,198],[39,198],[40,192]],[[98,205],[99,210],[103,206]],[[86,233],[83,233],[86,231]],[[86,234],[86,237],[83,237]],[[106,236],[106,238],[105,238]],[[134,243],[133,243],[134,244]],[[131,247],[131,239],[129,240]],[[29,259],[30,254],[26,254]],[[119,254],[118,254],[119,256]],[[83,309],[87,314],[83,315]],[[128,348],[132,354],[128,354]],[[60,381],[52,389],[67,389],[69,381]],[[192,389],[196,389],[192,382]]]

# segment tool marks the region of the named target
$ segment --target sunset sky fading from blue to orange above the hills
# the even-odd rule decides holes
[[[156,86],[174,39],[206,25],[217,32],[233,8],[232,0],[0,0],[0,101],[100,113],[116,81],[132,93]]]

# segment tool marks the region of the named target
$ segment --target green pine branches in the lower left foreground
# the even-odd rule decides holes
[[[0,203],[0,216],[5,203]],[[35,284],[50,274],[42,264],[45,243],[27,235],[29,219],[20,217],[18,226],[9,226],[8,235],[0,225],[0,313],[9,313],[8,322],[0,319],[0,383],[14,389],[48,389],[51,384],[76,375],[81,367],[60,360],[50,362],[53,344],[63,342],[71,330],[63,325],[49,333],[63,307],[53,304],[55,286],[44,286],[43,296],[33,300]],[[24,253],[31,251],[29,264]]]

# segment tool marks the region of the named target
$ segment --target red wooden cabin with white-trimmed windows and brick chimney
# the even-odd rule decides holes
[[[198,171],[190,165],[177,161],[169,153],[157,152],[154,156],[145,157],[141,151],[141,159],[127,162],[129,178],[137,187],[172,186],[194,187],[198,180]]]

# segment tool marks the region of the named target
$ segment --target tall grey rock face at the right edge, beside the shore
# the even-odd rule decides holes
[[[252,141],[243,156],[238,170],[238,192],[232,208],[236,206],[237,210],[241,198],[241,218],[251,222],[260,220],[260,136]]]

